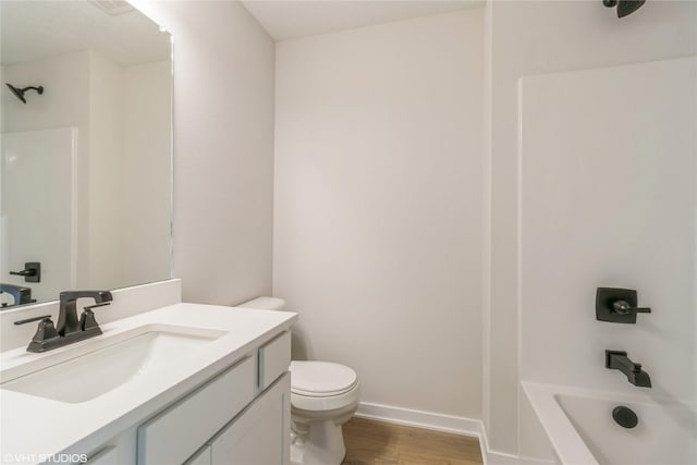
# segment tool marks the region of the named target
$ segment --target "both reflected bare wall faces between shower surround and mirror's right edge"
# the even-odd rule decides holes
[[[171,267],[171,63],[120,66],[89,57],[89,281],[82,285],[158,281]]]

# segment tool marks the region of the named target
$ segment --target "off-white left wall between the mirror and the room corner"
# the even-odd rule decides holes
[[[133,1],[174,36],[174,276],[186,302],[271,292],[273,42],[234,1]]]

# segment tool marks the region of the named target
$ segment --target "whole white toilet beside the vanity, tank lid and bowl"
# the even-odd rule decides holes
[[[237,305],[283,310],[285,301],[258,297]],[[341,426],[358,408],[356,372],[332,362],[293,360],[291,371],[291,463],[339,465],[346,455]]]

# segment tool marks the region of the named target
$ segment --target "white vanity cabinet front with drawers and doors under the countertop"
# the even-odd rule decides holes
[[[87,464],[289,465],[290,363],[283,331],[103,444]]]

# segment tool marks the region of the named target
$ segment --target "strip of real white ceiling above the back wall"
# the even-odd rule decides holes
[[[286,40],[481,7],[485,0],[242,0],[274,39]]]

